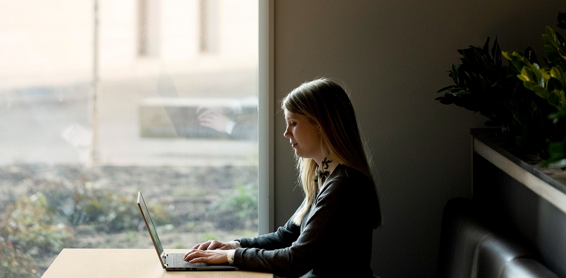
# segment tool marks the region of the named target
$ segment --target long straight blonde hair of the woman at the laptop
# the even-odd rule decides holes
[[[303,115],[320,126],[321,147],[329,158],[363,173],[375,187],[354,108],[340,85],[324,77],[315,79],[293,89],[281,102],[283,110]],[[314,159],[297,157],[299,181],[306,199],[305,206],[293,218],[297,225],[301,225],[318,192],[314,181],[316,166]],[[378,210],[374,228],[381,224],[379,205]]]

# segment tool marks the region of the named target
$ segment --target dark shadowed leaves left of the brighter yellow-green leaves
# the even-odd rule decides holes
[[[491,50],[489,42],[487,38],[483,47],[458,50],[462,64],[453,64],[448,75],[456,85],[440,89],[438,92],[445,94],[436,100],[480,112],[489,119],[486,126],[502,125],[503,134],[522,152],[544,156],[544,134],[552,124],[547,115],[554,108],[522,86],[517,68],[503,64],[497,38]],[[525,57],[538,63],[531,47],[525,50]]]

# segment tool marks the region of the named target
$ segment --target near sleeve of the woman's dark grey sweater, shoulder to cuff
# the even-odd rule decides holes
[[[297,240],[275,250],[260,249],[260,246],[238,248],[234,254],[234,265],[242,270],[268,271],[284,277],[299,277],[315,268],[325,256],[331,254],[328,242],[336,240],[333,231],[344,229],[342,226],[346,223],[341,219],[353,214],[355,200],[351,199],[352,194],[343,183],[344,179],[327,181],[309,214],[303,218],[303,228],[299,230]],[[300,229],[295,225],[293,231],[297,228]]]

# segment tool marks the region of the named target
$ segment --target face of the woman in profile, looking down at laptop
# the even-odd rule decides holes
[[[320,127],[303,115],[285,111],[287,128],[283,135],[289,138],[297,157],[312,158],[320,163],[324,158],[320,147]]]

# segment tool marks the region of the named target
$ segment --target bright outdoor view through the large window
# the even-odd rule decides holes
[[[258,233],[256,1],[0,2],[0,277]]]

